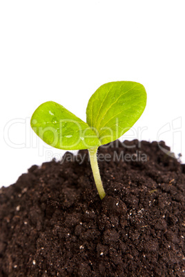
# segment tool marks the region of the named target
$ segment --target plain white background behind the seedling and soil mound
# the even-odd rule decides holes
[[[64,153],[30,129],[41,103],[56,101],[86,121],[88,99],[109,81],[137,81],[148,94],[124,138],[164,140],[185,162],[184,33],[183,0],[1,1],[0,186]]]

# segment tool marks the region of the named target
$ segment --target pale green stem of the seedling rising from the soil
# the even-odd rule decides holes
[[[94,176],[94,179],[95,179],[95,184],[97,186],[97,191],[99,193],[99,197],[102,200],[106,196],[106,193],[104,191],[104,187],[102,185],[101,177],[100,177],[100,174],[99,174],[99,167],[98,167],[98,164],[97,164],[97,148],[98,147],[90,148],[90,149],[88,149],[88,152],[89,152],[89,156],[90,156],[90,165],[91,165],[92,170],[93,170],[93,176]]]

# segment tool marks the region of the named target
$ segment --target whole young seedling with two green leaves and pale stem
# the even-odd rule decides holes
[[[88,149],[101,199],[106,195],[97,164],[100,145],[119,139],[144,112],[146,90],[140,83],[118,81],[101,85],[90,97],[86,121],[65,107],[48,101],[32,114],[31,127],[48,145],[63,150]]]

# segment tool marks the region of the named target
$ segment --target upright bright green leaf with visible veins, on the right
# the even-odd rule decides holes
[[[144,112],[146,90],[130,81],[101,85],[90,97],[86,109],[87,123],[102,144],[119,139]]]

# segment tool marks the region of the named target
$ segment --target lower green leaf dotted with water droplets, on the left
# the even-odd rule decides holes
[[[43,141],[55,148],[81,150],[101,145],[87,123],[52,101],[35,110],[31,127]]]

